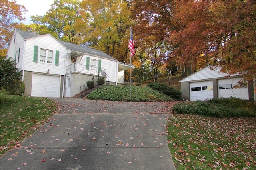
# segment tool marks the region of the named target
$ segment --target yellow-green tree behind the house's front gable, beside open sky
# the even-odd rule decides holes
[[[55,0],[44,16],[31,16],[39,34],[51,33],[54,37],[74,44],[81,44],[81,31],[76,21],[81,17],[80,2]]]

